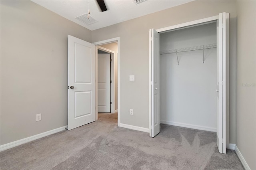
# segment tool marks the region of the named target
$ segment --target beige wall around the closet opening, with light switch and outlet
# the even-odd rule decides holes
[[[193,1],[92,31],[92,42],[120,37],[120,123],[148,128],[148,31],[230,13],[230,99],[236,98],[236,2]],[[129,81],[135,75],[135,81]],[[236,142],[236,105],[230,102],[230,143]],[[129,109],[134,109],[133,115]]]

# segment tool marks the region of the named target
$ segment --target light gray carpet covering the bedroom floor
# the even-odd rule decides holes
[[[161,125],[160,134],[117,127],[117,114],[53,134],[0,156],[1,170],[244,169],[234,150],[218,153],[216,133]]]

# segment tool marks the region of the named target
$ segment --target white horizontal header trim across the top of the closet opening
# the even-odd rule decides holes
[[[218,20],[219,16],[212,16],[212,17],[208,17],[208,18],[203,18],[200,20],[195,20],[195,21],[190,21],[190,22],[186,22],[186,23],[182,23],[182,24],[178,24],[178,25],[174,25],[174,26],[169,26],[169,27],[165,27],[165,28],[160,28],[157,29],[156,31],[159,33],[165,32],[165,31],[169,31],[169,30],[174,30],[177,28],[182,28],[182,27],[187,27],[187,26],[192,26],[192,25],[196,25],[196,24],[202,24],[204,22],[210,22],[210,21],[214,21],[214,20]]]

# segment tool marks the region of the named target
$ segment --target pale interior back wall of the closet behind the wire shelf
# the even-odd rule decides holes
[[[184,28],[160,34],[160,54],[216,42],[216,22]],[[216,83],[216,48],[161,54],[160,123],[216,132]]]

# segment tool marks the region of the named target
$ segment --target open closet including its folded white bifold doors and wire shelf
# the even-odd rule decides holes
[[[216,132],[229,143],[229,14],[149,31],[149,132],[160,123]]]

